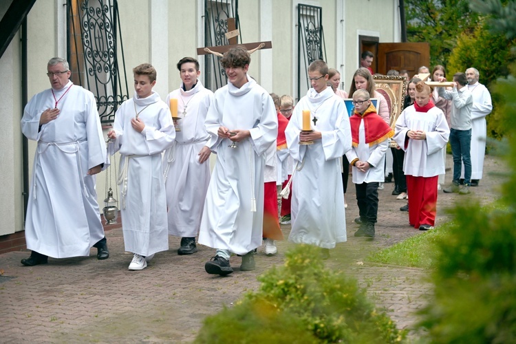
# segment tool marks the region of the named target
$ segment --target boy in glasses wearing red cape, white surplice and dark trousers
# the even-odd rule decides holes
[[[357,89],[353,94],[355,111],[350,117],[353,148],[347,160],[353,166],[356,203],[360,214],[360,228],[355,237],[374,238],[378,215],[378,184],[383,182],[385,153],[394,131],[378,116],[369,100],[369,92]]]

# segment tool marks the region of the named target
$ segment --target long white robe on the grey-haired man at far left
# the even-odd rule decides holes
[[[21,119],[23,134],[38,143],[25,219],[27,248],[54,258],[87,256],[104,237],[96,178],[87,171],[107,167],[105,140],[92,92],[72,85],[54,90],[55,98],[52,89],[36,94]],[[41,114],[55,107],[55,99],[61,112],[38,131]]]

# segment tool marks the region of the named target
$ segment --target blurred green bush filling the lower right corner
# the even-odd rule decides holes
[[[516,122],[516,79],[499,80],[504,122]],[[438,244],[435,300],[422,310],[433,343],[516,342],[516,138],[508,133],[507,181],[498,208],[455,208],[454,225]]]

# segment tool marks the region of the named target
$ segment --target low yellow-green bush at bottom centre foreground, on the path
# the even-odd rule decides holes
[[[296,246],[284,266],[233,308],[208,317],[196,343],[399,343],[405,331],[376,310],[354,279],[324,268],[319,249]]]

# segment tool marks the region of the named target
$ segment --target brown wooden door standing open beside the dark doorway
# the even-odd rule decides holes
[[[412,77],[422,65],[430,70],[429,43],[378,43],[378,73],[387,74],[390,69],[406,69]]]

